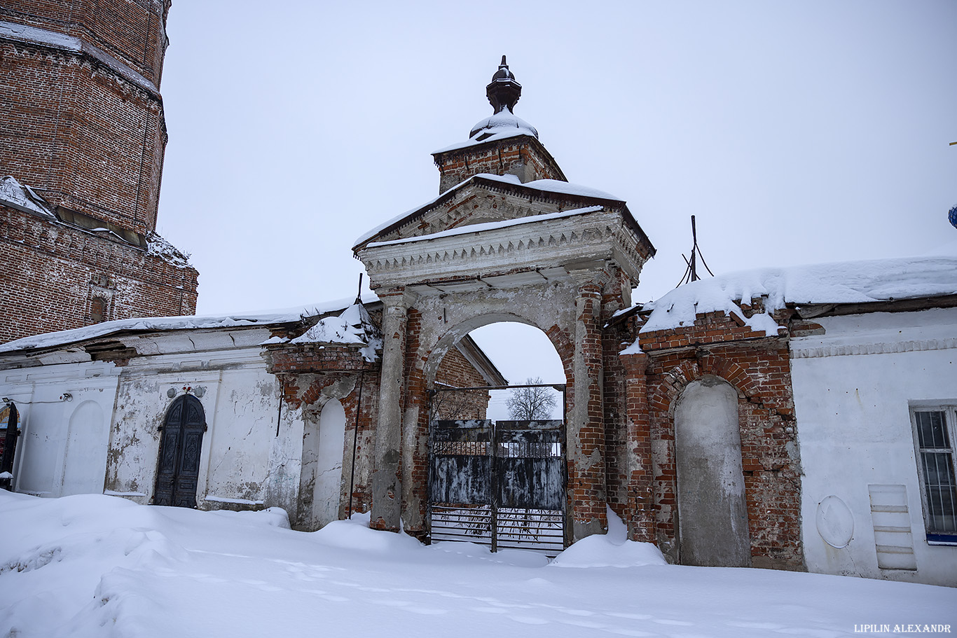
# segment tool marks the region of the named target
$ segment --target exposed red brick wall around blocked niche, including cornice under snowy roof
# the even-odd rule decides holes
[[[776,317],[779,323],[786,322],[784,314]],[[632,324],[633,336],[639,327]],[[659,546],[677,556],[675,403],[689,383],[713,375],[732,385],[739,396],[752,562],[760,567],[802,568],[800,462],[786,338],[752,332],[740,319],[719,312],[701,314],[691,326],[643,334],[641,348],[644,354],[623,358],[634,393],[625,427],[634,430],[629,445],[639,457],[653,457],[651,487]],[[647,371],[642,375],[645,363]],[[648,442],[642,434],[646,423]],[[630,525],[633,538],[642,534],[642,525],[650,523],[636,512],[642,506],[640,491],[646,477],[640,464],[629,476],[630,497],[635,500],[624,511],[635,521]],[[612,478],[621,480],[617,475]]]

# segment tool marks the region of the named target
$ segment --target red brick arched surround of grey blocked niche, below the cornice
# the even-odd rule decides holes
[[[654,505],[643,513],[643,535],[640,524],[632,526],[633,538],[653,539],[669,558],[679,561],[675,405],[689,384],[715,377],[738,394],[752,564],[801,568],[801,466],[786,350],[754,346],[729,350],[723,356],[687,352],[683,359],[675,354],[639,357],[647,358],[651,472],[634,485],[639,492],[640,486],[646,486],[643,489],[651,492]],[[636,500],[640,506],[640,499]]]

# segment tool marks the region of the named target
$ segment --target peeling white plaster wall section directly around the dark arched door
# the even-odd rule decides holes
[[[282,459],[287,457],[281,453],[288,445],[277,436],[278,382],[266,371],[257,350],[246,354],[256,359],[224,369],[157,372],[144,364],[124,373],[110,441],[107,489],[139,502],[150,501],[160,452],[159,426],[174,400],[167,392],[176,390],[178,396],[186,386],[197,394],[208,428],[200,451],[197,506],[288,507],[282,485],[288,482],[285,473],[290,468],[283,467]],[[167,357],[151,363],[162,366]],[[201,397],[198,388],[202,388]],[[271,482],[278,486],[270,487]]]

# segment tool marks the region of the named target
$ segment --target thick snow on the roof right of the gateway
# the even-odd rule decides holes
[[[641,332],[691,325],[698,313],[722,311],[745,319],[739,305],[764,297],[764,313],[746,323],[777,334],[770,314],[786,304],[839,304],[957,295],[957,256],[850,261],[762,268],[701,279],[644,305],[651,310]]]

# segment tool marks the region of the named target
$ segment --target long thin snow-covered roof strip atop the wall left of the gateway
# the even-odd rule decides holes
[[[378,301],[379,297],[372,294],[363,296],[363,303]],[[352,305],[354,299],[335,299],[317,304],[295,306],[281,310],[264,310],[251,313],[233,313],[229,315],[214,315],[205,317],[146,317],[141,319],[117,319],[103,321],[82,328],[60,330],[33,337],[24,337],[15,341],[0,344],[0,354],[23,350],[37,350],[52,348],[78,341],[87,341],[105,337],[118,332],[162,332],[167,330],[196,330],[210,328],[238,328],[249,326],[273,325],[278,323],[293,323],[305,317],[316,317],[337,310],[343,310]]]

